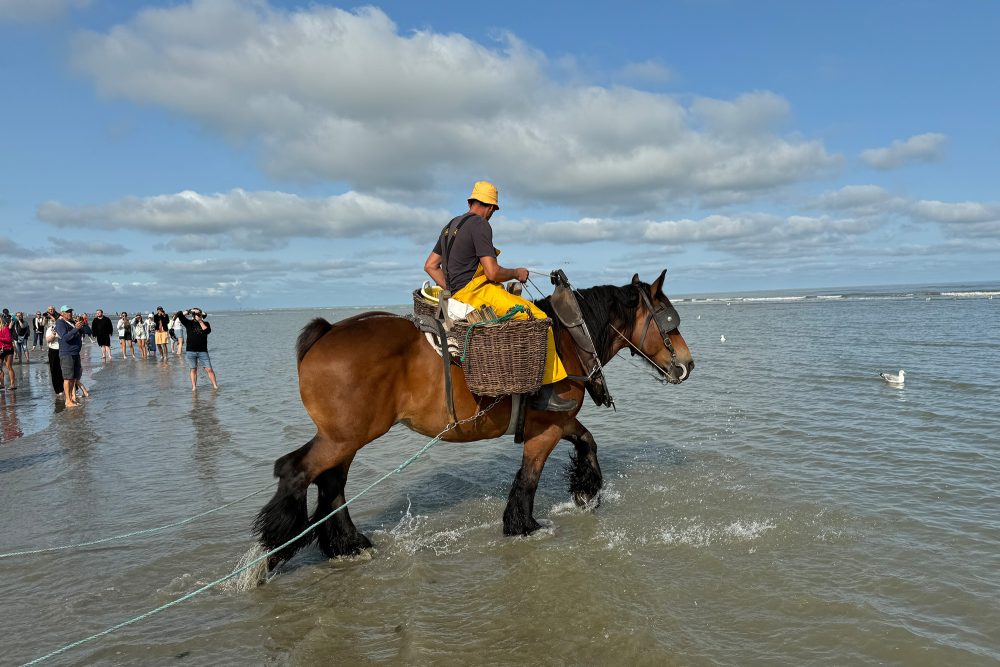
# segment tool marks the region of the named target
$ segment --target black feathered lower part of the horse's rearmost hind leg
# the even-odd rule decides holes
[[[306,507],[306,491],[309,483],[305,482],[304,475],[298,470],[298,464],[314,440],[315,438],[274,462],[274,476],[279,480],[278,490],[261,508],[253,522],[254,534],[260,537],[260,543],[268,551],[289,542],[309,525],[309,513]],[[273,569],[279,563],[288,560],[296,551],[315,539],[316,531],[311,530],[282,547],[268,559],[268,569]]]

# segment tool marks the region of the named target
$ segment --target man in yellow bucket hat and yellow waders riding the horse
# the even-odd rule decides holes
[[[514,306],[524,306],[532,315],[544,319],[545,312],[527,299],[508,292],[502,283],[508,280],[526,282],[528,269],[510,269],[497,262],[500,251],[493,245],[490,218],[500,210],[499,192],[492,183],[478,181],[468,197],[469,210],[456,216],[438,236],[434,249],[424,262],[424,271],[438,285],[451,292],[451,298],[473,308],[489,305],[503,315]],[[527,319],[526,313],[515,316]],[[538,410],[568,412],[577,407],[576,401],[561,398],[553,385],[566,377],[551,327],[545,354],[543,387],[533,397],[532,407]]]

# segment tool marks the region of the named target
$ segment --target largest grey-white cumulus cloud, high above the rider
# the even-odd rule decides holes
[[[371,7],[195,0],[82,33],[72,59],[105,95],[259,146],[272,176],[365,193],[482,174],[526,203],[606,215],[746,199],[840,163],[821,141],[782,134],[788,103],[773,93],[685,104],[567,83],[514,35],[401,34]]]

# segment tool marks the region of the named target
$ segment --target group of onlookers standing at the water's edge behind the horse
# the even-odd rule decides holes
[[[4,308],[0,313],[0,391],[17,389],[15,357],[18,364],[30,363],[32,351],[46,349],[52,390],[66,401],[67,406],[78,405],[81,395],[90,395],[80,381],[82,346],[89,337],[100,347],[101,361],[109,363],[112,361],[112,335],[118,337],[122,359],[155,359],[159,354],[165,363],[171,354],[184,354],[191,370],[192,391],[197,389],[199,366],[205,369],[212,386],[218,389],[208,355],[208,334],[212,327],[205,318],[200,308],[179,310],[171,316],[163,306],[158,306],[145,318],[142,313],[130,317],[122,311],[117,323],[113,323],[101,308],[95,311],[93,319],[89,319],[86,313],[75,315],[70,306],[63,306],[58,312],[55,306],[49,306],[44,311],[37,311],[28,321],[23,312],[11,316]],[[139,357],[136,357],[137,345]],[[4,374],[8,380],[6,384]]]

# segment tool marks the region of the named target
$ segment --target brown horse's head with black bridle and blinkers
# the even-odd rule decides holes
[[[694,370],[694,361],[684,337],[681,336],[681,318],[663,293],[664,269],[652,285],[632,277],[632,286],[639,292],[639,307],[635,311],[632,332],[629,335],[633,354],[641,352],[671,384],[680,384]]]

